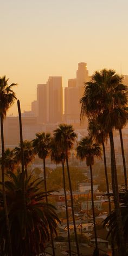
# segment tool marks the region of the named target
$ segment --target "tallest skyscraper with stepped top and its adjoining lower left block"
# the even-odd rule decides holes
[[[84,83],[89,81],[87,63],[78,64],[76,79],[68,80],[68,87],[65,88],[65,122],[80,124],[80,99],[84,94]]]

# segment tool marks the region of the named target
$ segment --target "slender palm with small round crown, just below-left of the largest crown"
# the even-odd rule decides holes
[[[94,224],[94,234],[95,234],[95,248],[98,251],[98,242],[97,242],[97,230],[95,226],[95,213],[94,213],[94,199],[93,199],[93,174],[92,174],[92,165],[94,164],[94,156],[101,156],[100,145],[93,143],[92,139],[85,137],[80,140],[79,145],[76,148],[77,156],[83,161],[86,159],[86,164],[89,166],[91,174],[91,195],[92,195],[92,211],[93,211],[93,224]]]

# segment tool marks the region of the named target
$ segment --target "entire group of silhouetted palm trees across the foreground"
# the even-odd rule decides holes
[[[124,148],[123,148],[123,137],[121,129],[126,125],[127,122],[127,86],[122,83],[123,77],[116,74],[113,70],[103,69],[102,71],[97,71],[92,75],[92,80],[85,84],[85,92],[83,97],[80,99],[81,103],[81,120],[86,116],[88,118],[88,136],[82,138],[77,145],[76,154],[77,157],[83,161],[86,159],[86,164],[90,169],[91,174],[91,193],[92,193],[92,210],[93,210],[93,224],[94,224],[94,234],[95,234],[95,255],[99,255],[98,250],[98,242],[97,242],[97,229],[95,226],[95,213],[94,213],[94,199],[93,199],[93,170],[92,165],[94,164],[94,157],[101,157],[101,146],[103,148],[104,155],[104,166],[105,166],[105,177],[106,177],[106,187],[107,187],[107,195],[108,195],[108,203],[109,203],[109,216],[105,221],[105,224],[108,222],[110,227],[110,233],[113,235],[113,232],[118,238],[118,248],[119,255],[126,255],[126,245],[124,238],[124,222],[122,219],[123,207],[120,208],[119,201],[119,191],[118,191],[118,180],[117,180],[117,168],[116,168],[116,155],[114,152],[114,140],[113,140],[113,129],[118,129],[120,134],[120,143],[121,143],[121,152],[123,156],[123,167],[124,167],[124,183],[125,190],[127,193],[127,175],[126,175],[126,164],[125,164],[125,156],[124,156]],[[0,115],[1,115],[1,140],[2,140],[2,158],[1,158],[1,166],[2,166],[2,191],[0,194],[0,204],[3,207],[4,215],[0,215],[0,222],[5,219],[2,232],[0,235],[3,236],[3,240],[0,243],[0,247],[3,250],[3,255],[14,254],[14,247],[12,243],[12,237],[14,239],[14,235],[12,234],[11,229],[11,220],[13,222],[13,218],[11,216],[11,207],[10,207],[10,195],[12,194],[12,190],[17,186],[15,190],[14,197],[16,198],[17,193],[22,191],[23,200],[22,200],[22,210],[23,217],[21,218],[23,223],[27,223],[28,212],[30,212],[30,208],[35,211],[33,208],[36,205],[36,216],[37,219],[39,216],[42,216],[43,207],[46,207],[46,213],[48,216],[43,216],[45,220],[47,220],[48,227],[47,231],[44,230],[44,238],[41,238],[41,242],[38,245],[35,245],[36,251],[29,251],[31,248],[31,242],[33,240],[36,244],[36,238],[42,232],[42,221],[39,221],[39,226],[34,224],[33,216],[31,215],[30,221],[30,240],[24,240],[28,243],[29,248],[26,247],[25,242],[22,241],[22,249],[21,256],[28,255],[28,252],[31,252],[31,255],[39,254],[41,250],[44,249],[44,245],[46,241],[49,239],[52,242],[53,255],[55,255],[54,249],[54,234],[56,233],[56,225],[55,222],[59,221],[57,219],[57,215],[55,213],[55,209],[48,203],[49,191],[47,191],[47,178],[46,178],[46,158],[50,155],[52,161],[55,163],[62,164],[62,175],[63,175],[63,189],[65,193],[65,204],[66,204],[66,217],[67,217],[67,229],[68,229],[68,246],[69,246],[69,255],[72,255],[71,252],[71,239],[69,232],[69,218],[68,218],[68,204],[67,204],[67,195],[66,195],[66,184],[65,184],[65,165],[68,174],[69,181],[69,190],[71,193],[71,207],[72,207],[72,216],[73,216],[73,225],[74,225],[74,234],[76,241],[76,250],[78,256],[80,255],[78,237],[76,233],[75,226],[75,217],[74,217],[74,207],[73,207],[73,193],[72,193],[72,181],[70,177],[69,171],[69,163],[68,157],[69,152],[72,149],[75,139],[76,133],[72,125],[60,124],[59,127],[53,132],[53,137],[50,133],[36,133],[36,138],[31,142],[25,140],[23,142],[22,138],[22,120],[21,120],[21,111],[20,111],[20,101],[17,101],[18,105],[18,113],[20,120],[20,138],[21,142],[18,147],[16,147],[13,151],[7,149],[4,150],[4,136],[3,136],[3,119],[6,116],[8,108],[14,103],[16,99],[15,93],[12,91],[11,87],[15,86],[12,84],[8,86],[8,80],[5,79],[5,76],[0,79]],[[2,98],[3,97],[3,98]],[[113,190],[113,200],[114,200],[114,212],[111,212],[111,201],[110,201],[110,191],[108,185],[108,177],[107,177],[107,163],[106,163],[106,153],[105,153],[105,142],[107,139],[110,139],[110,153],[111,153],[111,180],[112,180],[112,190]],[[35,155],[43,161],[43,182],[44,182],[44,192],[41,194],[42,190],[38,188],[42,184],[42,182],[37,181],[35,183],[30,182],[31,175],[28,174],[28,164],[31,163]],[[17,169],[18,165],[21,163],[21,172],[16,176],[13,171]],[[5,171],[9,171],[8,176],[10,177],[10,183],[8,181],[5,182]],[[18,184],[18,185],[17,185]],[[42,189],[42,188],[41,188]],[[30,191],[33,191],[32,197]],[[30,193],[30,194],[29,194]],[[37,197],[35,196],[37,195]],[[34,197],[35,196],[35,197]],[[35,202],[36,201],[36,202]],[[126,200],[124,200],[126,201]],[[123,201],[123,203],[124,203]],[[43,206],[42,206],[43,203]],[[14,208],[13,208],[14,209]],[[51,215],[52,214],[52,215]],[[52,219],[53,216],[53,219]],[[13,216],[14,217],[14,216]],[[111,219],[112,217],[112,219]],[[36,220],[37,220],[36,219]],[[40,218],[39,218],[40,219]],[[51,225],[49,222],[51,220]],[[111,220],[114,219],[114,222]],[[116,224],[115,224],[116,223]],[[36,231],[34,225],[37,225],[39,229]],[[25,224],[22,226],[24,227]],[[22,228],[21,228],[22,229]],[[6,232],[7,230],[7,232]],[[28,230],[28,229],[27,229]],[[25,232],[25,231],[23,231]],[[33,233],[35,232],[35,233]],[[39,234],[38,234],[39,232]],[[47,233],[48,232],[48,233]],[[7,234],[7,238],[5,239],[5,234]],[[24,233],[27,235],[27,232]],[[27,236],[21,236],[19,239],[27,238]],[[46,239],[45,239],[46,238]],[[43,242],[42,242],[42,239]],[[6,246],[5,241],[7,241]],[[20,240],[19,240],[20,241]],[[113,242],[112,242],[113,248]],[[5,251],[4,251],[5,250]],[[18,250],[18,249],[17,249]],[[28,250],[28,251],[27,251]],[[9,253],[7,253],[9,252]],[[17,251],[18,252],[18,251]],[[13,254],[12,254],[13,253]],[[20,255],[20,254],[16,254]],[[113,249],[114,255],[114,249]]]

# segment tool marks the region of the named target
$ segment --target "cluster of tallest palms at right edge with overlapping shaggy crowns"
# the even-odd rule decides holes
[[[107,178],[107,165],[105,157],[104,142],[110,138],[111,151],[111,180],[114,200],[114,216],[117,223],[118,249],[119,255],[126,255],[126,245],[124,237],[123,219],[120,212],[116,155],[114,151],[113,130],[118,129],[120,134],[121,151],[123,156],[124,182],[127,191],[126,164],[123,148],[123,138],[121,129],[127,122],[127,86],[123,84],[123,77],[116,74],[112,69],[103,69],[96,71],[92,75],[92,80],[85,84],[85,92],[80,100],[81,119],[85,116],[88,118],[88,139],[92,143],[100,143],[103,146],[105,176],[107,184],[107,193],[109,199],[109,188]],[[81,142],[84,143],[84,140]],[[87,143],[86,147],[87,147]],[[92,144],[93,146],[93,144]],[[82,150],[84,155],[84,149]],[[89,152],[88,152],[89,156]],[[82,157],[84,158],[84,156]],[[111,204],[109,200],[109,209],[111,216]],[[109,219],[109,218],[108,218]],[[110,222],[111,224],[111,222]],[[111,232],[112,232],[111,228]],[[96,245],[97,247],[97,245]]]

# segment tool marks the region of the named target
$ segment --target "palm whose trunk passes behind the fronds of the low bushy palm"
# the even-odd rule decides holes
[[[50,145],[51,145],[51,136],[50,133],[36,133],[36,138],[33,139],[34,152],[39,156],[39,158],[43,159],[43,175],[44,175],[44,190],[46,193],[46,202],[48,203],[47,197],[47,182],[46,182],[46,157],[48,157],[50,153]],[[53,249],[53,256],[55,256],[55,248],[53,241],[53,234],[51,234],[51,242]]]

